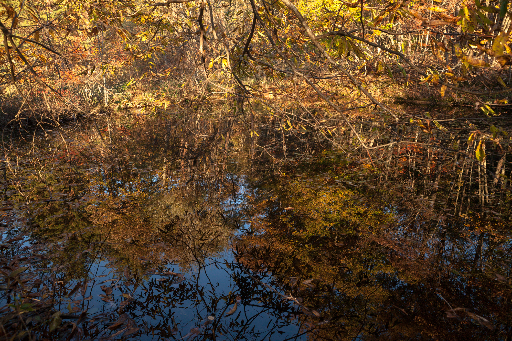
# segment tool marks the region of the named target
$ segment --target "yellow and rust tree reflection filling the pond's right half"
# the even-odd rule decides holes
[[[506,258],[492,220],[450,219],[446,206],[423,209],[421,201],[390,205],[404,196],[398,187],[382,196],[361,186],[315,191],[300,177],[291,182],[254,203],[238,257],[320,313],[301,314],[309,337],[500,339],[497,323],[509,333],[506,281],[496,266],[474,266],[483,264],[484,233],[493,236],[487,259]],[[457,308],[451,314],[448,303]]]

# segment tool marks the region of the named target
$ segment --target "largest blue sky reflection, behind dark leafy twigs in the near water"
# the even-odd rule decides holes
[[[242,297],[243,302],[249,302],[248,304],[250,304],[251,306],[239,304],[238,310],[233,315],[225,316],[225,312],[229,311],[233,305],[230,304],[228,305],[227,309],[225,309],[226,302],[222,300],[221,297],[227,296],[230,293],[236,295],[238,294],[239,289],[237,288],[236,283],[233,282],[231,276],[231,271],[233,271],[233,269],[227,268],[226,264],[224,263],[224,260],[226,260],[229,264],[233,264],[234,260],[231,250],[226,249],[219,254],[219,257],[214,259],[207,259],[205,261],[205,266],[202,266],[200,269],[196,268],[194,270],[191,270],[190,272],[184,273],[185,281],[182,282],[181,284],[174,284],[174,288],[172,290],[164,290],[161,287],[159,288],[158,284],[156,284],[159,283],[157,281],[158,279],[168,276],[150,275],[149,278],[145,279],[142,283],[143,285],[140,285],[138,288],[135,289],[135,291],[131,292],[132,297],[134,297],[137,300],[137,302],[132,302],[131,305],[125,308],[125,312],[128,312],[131,315],[131,318],[135,319],[138,326],[142,330],[142,335],[139,335],[139,332],[138,334],[134,334],[132,336],[134,336],[135,339],[141,340],[156,339],[157,331],[155,331],[155,336],[153,336],[151,331],[144,331],[144,326],[148,326],[148,330],[151,330],[150,326],[170,325],[170,328],[172,329],[173,326],[172,323],[170,322],[170,317],[174,317],[178,325],[179,331],[175,335],[175,337],[177,339],[180,339],[180,337],[188,334],[190,329],[198,327],[201,328],[201,325],[204,324],[208,316],[215,316],[215,322],[222,322],[224,328],[228,330],[230,329],[230,323],[234,322],[235,320],[238,323],[241,323],[241,321],[243,320],[245,324],[245,326],[242,328],[243,331],[251,331],[250,335],[246,334],[245,332],[242,332],[240,333],[240,335],[237,335],[239,334],[240,331],[239,327],[237,328],[237,330],[234,330],[232,333],[230,333],[231,335],[218,334],[216,338],[219,340],[232,340],[243,338],[252,339],[252,335],[259,335],[258,337],[254,337],[255,339],[263,339],[264,336],[266,336],[266,339],[268,339],[268,336],[270,335],[267,335],[267,331],[271,330],[274,324],[279,324],[280,327],[277,330],[283,333],[272,334],[272,340],[286,339],[296,335],[299,329],[298,326],[296,326],[294,323],[287,324],[286,321],[275,321],[276,313],[274,312],[274,316],[272,316],[272,311],[267,311],[268,308],[258,307],[261,306],[261,304],[259,304],[257,300],[251,300],[252,297]],[[116,320],[118,316],[118,313],[116,313],[116,309],[118,308],[118,304],[123,300],[122,293],[126,292],[126,287],[121,286],[120,288],[117,288],[116,286],[114,286],[114,302],[106,303],[101,301],[100,295],[104,294],[104,292],[100,288],[102,285],[109,286],[112,284],[120,284],[121,282],[123,282],[123,280],[117,280],[119,278],[122,278],[123,271],[112,273],[112,271],[119,270],[113,270],[114,268],[109,269],[108,266],[108,261],[100,261],[95,263],[94,266],[91,268],[90,275],[93,276],[95,279],[89,281],[89,288],[87,290],[86,296],[92,295],[92,299],[89,301],[85,301],[84,306],[84,308],[88,309],[87,312],[89,313],[89,317],[102,313],[112,315],[110,322],[105,323],[105,327],[108,327],[109,325],[112,324],[113,321]],[[167,268],[169,270],[172,270],[174,268],[174,270],[177,271],[178,266],[173,266],[173,264],[170,264],[167,266]],[[103,277],[98,278],[98,276]],[[109,282],[109,280],[113,280],[113,282]],[[153,287],[153,290],[150,290],[150,282],[156,284]],[[76,283],[73,283],[70,287],[73,287],[75,284]],[[154,312],[159,307],[161,307],[161,304],[159,304],[161,303],[160,298],[151,300],[150,304],[145,304],[145,299],[149,294],[160,294],[160,297],[164,297],[167,294],[172,297],[173,290],[175,292],[179,291],[180,286],[187,287],[189,284],[191,285],[190,288],[192,290],[191,292],[188,292],[188,296],[193,296],[195,293],[199,293],[200,291],[202,291],[204,302],[201,302],[199,305],[196,306],[194,300],[187,299],[181,302],[175,302],[176,308],[169,307],[166,309],[162,309],[162,311],[158,313],[152,313],[152,311]],[[133,289],[134,287],[130,286],[128,288]],[[181,290],[183,292],[186,292],[186,289]],[[201,300],[200,295],[197,295],[194,298],[197,300]],[[73,300],[81,300],[80,293],[76,294],[75,297],[70,297],[70,301]],[[219,300],[217,310],[212,311],[212,303],[215,302],[216,300]],[[65,308],[66,306],[67,302],[63,302],[61,304],[61,311],[64,313],[67,313],[67,310]],[[222,312],[224,312],[224,315],[222,315]],[[169,318],[167,323],[165,322],[165,317]],[[206,328],[209,327],[211,326],[206,326]],[[192,339],[192,336],[186,337],[184,339]],[[296,339],[301,338],[298,337]]]

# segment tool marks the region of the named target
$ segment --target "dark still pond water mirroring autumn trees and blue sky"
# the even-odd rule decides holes
[[[371,162],[352,142],[280,155],[234,134],[11,152],[1,337],[508,340],[503,153],[487,142],[482,171],[466,135]]]

